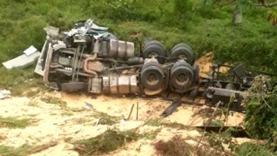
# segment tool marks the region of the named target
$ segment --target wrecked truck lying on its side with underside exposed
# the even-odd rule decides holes
[[[136,57],[134,43],[118,40],[106,30],[92,20],[80,21],[65,33],[47,28],[35,72],[47,87],[57,90],[149,96],[174,92],[205,97],[213,104],[229,101],[231,94],[239,102],[241,91],[251,86],[252,78],[242,66],[228,66],[233,79],[217,79],[224,65],[213,65],[209,77],[199,77],[192,48],[185,43],[174,45],[168,56],[160,42],[150,40]]]

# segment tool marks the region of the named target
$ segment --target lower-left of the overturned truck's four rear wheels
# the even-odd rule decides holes
[[[148,62],[141,69],[141,84],[146,89],[159,89],[163,84],[163,69],[157,62]]]

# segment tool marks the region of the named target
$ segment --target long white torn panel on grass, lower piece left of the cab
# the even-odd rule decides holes
[[[2,63],[6,69],[11,69],[13,67],[28,67],[38,60],[40,57],[40,52],[35,52],[32,55],[20,55],[12,60]]]

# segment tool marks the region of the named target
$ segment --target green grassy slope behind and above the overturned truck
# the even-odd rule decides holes
[[[45,26],[61,30],[94,18],[121,40],[138,33],[161,40],[170,49],[185,42],[197,55],[214,52],[216,62],[244,62],[277,73],[277,28],[262,7],[243,5],[243,23],[232,26],[234,5],[207,5],[207,0],[1,0],[0,62],[21,55],[30,45],[41,49]],[[7,72],[0,67],[0,87],[11,87],[18,75],[34,77],[33,67]],[[22,79],[22,77],[21,77]],[[20,82],[18,82],[20,83]]]

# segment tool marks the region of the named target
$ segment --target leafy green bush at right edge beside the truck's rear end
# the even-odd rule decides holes
[[[277,148],[277,87],[270,90],[268,77],[256,77],[253,86],[247,91],[244,102],[246,130],[253,138],[266,139]]]

